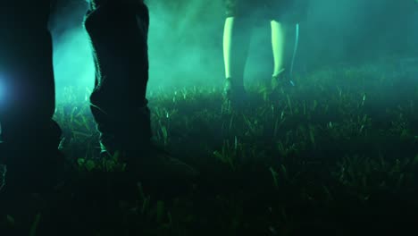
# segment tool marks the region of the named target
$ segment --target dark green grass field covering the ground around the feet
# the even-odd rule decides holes
[[[222,104],[219,88],[150,92],[155,141],[202,175],[189,188],[163,194],[140,184],[138,191],[119,190],[112,176],[121,164],[97,158],[88,102],[67,89],[55,117],[78,183],[49,202],[50,215],[27,211],[30,235],[53,223],[63,234],[92,236],[416,229],[416,72],[393,64],[342,66],[295,81],[273,97],[248,86],[252,98],[240,111]],[[21,218],[7,215],[2,225],[24,227]]]

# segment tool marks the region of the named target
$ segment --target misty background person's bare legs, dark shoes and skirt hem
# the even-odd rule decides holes
[[[273,72],[271,89],[291,85],[284,77],[285,32],[283,21],[288,22],[295,7],[305,10],[306,0],[225,0],[226,20],[223,31],[223,58],[225,63],[224,96],[231,102],[246,97],[244,71],[247,63],[251,33],[256,21],[270,21],[272,28]],[[297,5],[296,5],[297,4]],[[301,9],[304,7],[304,9]],[[260,13],[262,19],[256,19]],[[287,14],[288,19],[284,19]],[[294,20],[291,20],[294,21]]]

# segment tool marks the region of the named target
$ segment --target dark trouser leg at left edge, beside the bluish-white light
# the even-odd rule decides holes
[[[61,131],[54,114],[52,40],[47,30],[49,3],[35,11],[24,1],[0,2],[0,105],[2,151],[9,173],[23,178],[56,162]],[[19,2],[19,3],[16,3]],[[33,2],[33,1],[32,1]],[[12,4],[10,4],[12,3]],[[16,3],[16,4],[13,4]]]

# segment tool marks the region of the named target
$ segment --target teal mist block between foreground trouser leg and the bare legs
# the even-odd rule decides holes
[[[222,9],[222,3],[148,2],[151,18],[148,88],[219,84],[223,78],[223,11],[215,9]]]

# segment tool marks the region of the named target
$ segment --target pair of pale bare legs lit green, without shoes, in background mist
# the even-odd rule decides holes
[[[285,37],[282,23],[270,21],[272,29],[272,78],[276,78],[284,71],[284,45]],[[236,17],[225,20],[223,31],[223,59],[225,65],[225,78],[236,78],[236,83],[243,85],[244,68],[247,63],[249,38],[252,25],[248,21],[241,21]]]

